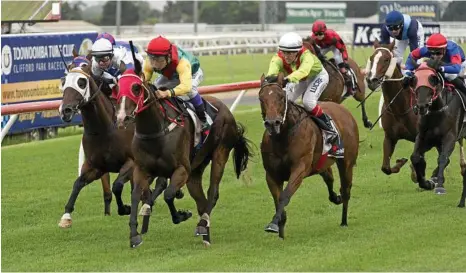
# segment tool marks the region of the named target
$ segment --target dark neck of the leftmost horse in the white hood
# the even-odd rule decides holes
[[[113,128],[113,117],[109,114],[103,94],[98,94],[94,101],[84,105],[81,110],[84,132],[90,134],[105,133]],[[108,103],[111,104],[110,101]]]

